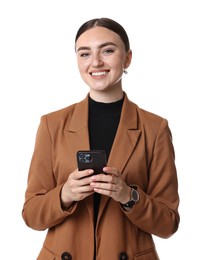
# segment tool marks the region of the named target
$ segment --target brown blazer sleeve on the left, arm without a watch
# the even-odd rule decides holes
[[[22,210],[25,223],[36,230],[61,223],[75,209],[75,204],[69,211],[61,208],[63,184],[57,185],[53,174],[52,138],[47,116],[43,116],[36,135]]]

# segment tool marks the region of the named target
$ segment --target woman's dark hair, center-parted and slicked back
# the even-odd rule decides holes
[[[125,45],[125,50],[128,51],[130,49],[129,38],[125,29],[119,23],[109,18],[96,18],[82,24],[77,31],[75,43],[82,33],[96,26],[105,27],[118,34]]]

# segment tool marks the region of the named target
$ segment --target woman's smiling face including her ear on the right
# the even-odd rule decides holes
[[[76,42],[80,75],[92,92],[121,89],[123,70],[131,62],[120,36],[104,27],[85,31]]]

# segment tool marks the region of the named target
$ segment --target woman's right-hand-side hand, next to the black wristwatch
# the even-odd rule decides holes
[[[114,200],[125,204],[130,200],[131,188],[122,179],[118,169],[114,167],[104,167],[106,174],[97,174],[91,176],[91,187],[95,192],[107,195]]]

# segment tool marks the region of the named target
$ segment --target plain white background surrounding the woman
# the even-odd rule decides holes
[[[36,130],[41,115],[87,94],[74,38],[83,22],[102,16],[120,22],[131,41],[124,90],[167,118],[173,134],[181,222],[169,239],[155,237],[160,259],[205,259],[206,14],[205,0],[0,2],[1,259],[33,260],[42,246],[45,232],[21,217]]]

